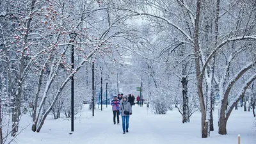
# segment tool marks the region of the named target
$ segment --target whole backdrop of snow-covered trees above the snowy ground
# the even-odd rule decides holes
[[[200,111],[206,138],[218,111],[227,134],[237,106],[255,116],[255,20],[255,0],[1,0],[0,141],[22,132],[24,113],[35,132],[70,118],[71,77],[75,112],[91,103],[92,63],[95,95],[101,76],[109,97],[142,82],[154,113],[177,107],[186,123]]]

